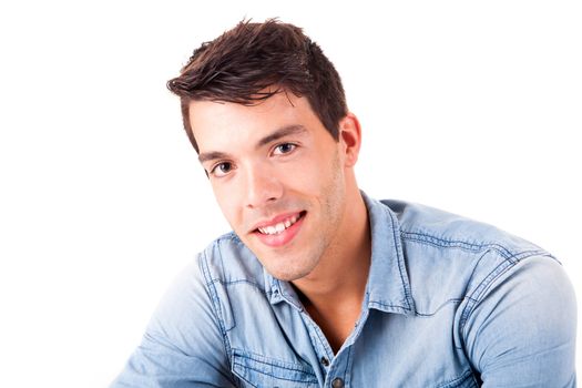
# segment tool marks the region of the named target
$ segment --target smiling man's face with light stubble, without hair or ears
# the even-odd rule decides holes
[[[234,232],[273,276],[310,274],[341,241],[343,142],[292,93],[254,106],[195,101],[190,116],[200,160]]]

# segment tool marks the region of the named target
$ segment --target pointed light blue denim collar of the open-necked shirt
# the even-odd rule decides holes
[[[371,265],[364,303],[368,308],[386,313],[412,314],[415,303],[402,254],[398,218],[381,202],[368,197],[364,192],[361,196],[368,210],[371,233]],[[303,310],[290,283],[276,279],[265,269],[264,275],[272,305],[285,300]]]

